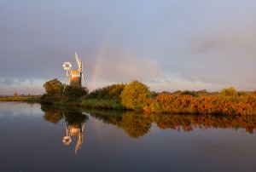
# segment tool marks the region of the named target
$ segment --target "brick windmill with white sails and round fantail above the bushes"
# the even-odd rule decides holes
[[[85,87],[87,87],[83,73],[83,61],[79,58],[79,55],[77,53],[75,53],[75,59],[77,61],[79,69],[71,69],[72,65],[68,61],[64,62],[63,64],[63,68],[64,70],[66,70],[66,79],[67,77],[70,77],[71,86],[82,87],[83,78]]]

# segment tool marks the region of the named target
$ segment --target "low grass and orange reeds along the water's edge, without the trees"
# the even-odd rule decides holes
[[[0,101],[27,101],[55,106],[79,106],[84,108],[132,110],[122,105],[121,100],[68,99],[62,96],[1,97]],[[209,115],[256,115],[256,97],[223,95],[165,95],[147,98],[140,109],[132,110],[163,114],[209,114]]]

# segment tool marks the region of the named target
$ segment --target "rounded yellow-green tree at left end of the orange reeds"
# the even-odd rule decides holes
[[[125,85],[122,91],[121,103],[123,106],[133,110],[142,110],[143,102],[150,95],[148,86],[136,80]]]

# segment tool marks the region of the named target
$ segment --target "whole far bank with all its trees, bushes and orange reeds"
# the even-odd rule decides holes
[[[63,94],[63,85],[56,82],[40,96],[13,97],[3,100],[40,101],[57,106],[81,106],[100,109],[131,110],[135,112],[166,114],[256,115],[256,92],[236,91],[230,87],[219,93],[176,91],[153,93],[138,81],[117,83],[90,94],[84,88],[69,87]],[[47,83],[51,83],[47,82]],[[57,88],[57,89],[56,89]],[[1,99],[0,99],[1,100]]]

